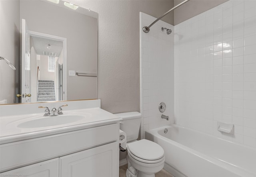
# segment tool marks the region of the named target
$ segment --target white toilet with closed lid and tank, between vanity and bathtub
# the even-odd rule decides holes
[[[123,121],[120,129],[126,133],[128,169],[126,177],[155,177],[164,167],[164,149],[149,140],[138,140],[141,116],[139,112],[116,114]]]

